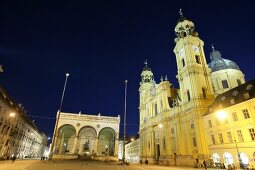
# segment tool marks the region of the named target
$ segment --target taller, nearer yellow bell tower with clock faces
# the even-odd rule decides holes
[[[177,62],[177,79],[180,85],[181,103],[213,97],[210,69],[204,54],[204,42],[195,31],[192,21],[179,12],[175,27],[174,53]],[[201,102],[198,102],[201,103]]]

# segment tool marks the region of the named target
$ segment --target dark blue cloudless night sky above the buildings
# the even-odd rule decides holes
[[[67,72],[63,112],[123,118],[128,79],[127,135],[136,135],[144,61],[156,82],[167,75],[178,87],[173,48],[180,8],[205,42],[207,62],[214,44],[246,80],[255,78],[250,0],[6,0],[0,2],[0,85],[52,136]]]

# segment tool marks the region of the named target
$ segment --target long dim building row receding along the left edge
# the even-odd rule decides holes
[[[0,157],[40,157],[47,145],[44,138],[23,106],[0,87]]]

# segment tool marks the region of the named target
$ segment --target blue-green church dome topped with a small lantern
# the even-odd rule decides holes
[[[212,49],[213,51],[210,54],[211,62],[208,64],[212,72],[225,69],[240,70],[234,61],[222,58],[219,51],[215,50],[214,47],[212,47]]]

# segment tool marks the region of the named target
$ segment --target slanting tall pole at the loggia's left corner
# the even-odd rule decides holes
[[[52,159],[52,156],[53,156],[53,148],[54,148],[55,140],[56,140],[56,133],[57,133],[57,128],[58,128],[59,116],[60,116],[61,109],[62,109],[62,104],[63,104],[63,100],[64,100],[64,96],[65,96],[67,79],[68,79],[69,75],[70,75],[69,73],[66,73],[66,79],[65,79],[63,93],[62,93],[62,97],[61,97],[61,101],[60,101],[60,105],[59,105],[59,110],[58,110],[58,114],[57,114],[57,120],[56,120],[56,124],[55,124],[55,128],[54,128],[54,133],[53,133],[52,144],[51,144],[51,148],[50,148],[49,159]]]

